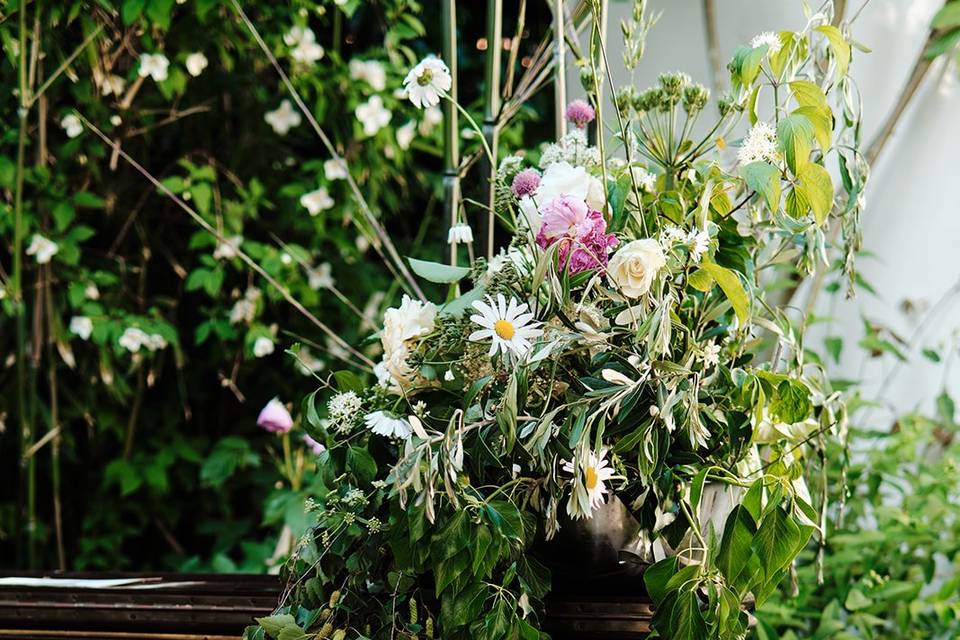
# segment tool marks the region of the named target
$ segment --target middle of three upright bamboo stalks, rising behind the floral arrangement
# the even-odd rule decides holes
[[[493,257],[493,235],[494,235],[494,200],[496,197],[496,178],[497,178],[497,144],[499,132],[497,130],[497,118],[500,115],[500,64],[501,50],[500,39],[503,32],[503,2],[502,0],[487,0],[487,60],[486,60],[486,86],[484,88],[485,100],[483,109],[483,137],[490,148],[492,159],[484,158],[485,171],[483,174],[487,177],[486,198],[487,214],[481,218],[480,237],[481,248],[485,251],[487,258]],[[513,43],[514,47],[519,47],[518,42]],[[511,55],[513,52],[511,51]]]

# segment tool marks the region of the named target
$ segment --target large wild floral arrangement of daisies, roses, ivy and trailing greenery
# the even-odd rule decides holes
[[[810,15],[739,48],[715,102],[665,73],[618,89],[607,118],[602,58],[569,132],[499,163],[509,246],[469,266],[411,259],[446,301],[405,295],[372,338],[375,379],[337,372],[306,399],[326,447],[318,525],[253,635],[544,637],[540,550],[618,506],[658,636],[743,637],[746,603],[822,539],[803,472],[846,410],[772,283],[822,264],[833,225],[856,250],[849,41]],[[405,84],[415,104],[449,99],[437,58]]]

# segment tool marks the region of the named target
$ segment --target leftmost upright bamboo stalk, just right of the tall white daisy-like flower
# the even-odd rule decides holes
[[[453,83],[443,101],[443,211],[448,229],[457,224],[460,207],[460,131],[457,114],[457,3],[443,0],[443,61]],[[457,245],[450,244],[450,264],[457,264]]]

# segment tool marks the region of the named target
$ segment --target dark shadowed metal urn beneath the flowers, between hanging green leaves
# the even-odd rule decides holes
[[[545,631],[554,640],[646,638],[653,606],[640,526],[616,497],[589,520],[564,519],[535,555],[553,574]]]

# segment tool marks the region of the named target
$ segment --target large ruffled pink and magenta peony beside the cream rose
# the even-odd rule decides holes
[[[557,260],[571,274],[605,267],[607,254],[618,240],[607,233],[603,214],[593,211],[577,198],[561,196],[542,210],[543,222],[537,234],[541,248],[560,243]]]

